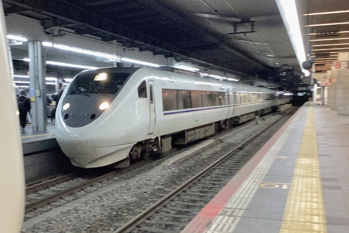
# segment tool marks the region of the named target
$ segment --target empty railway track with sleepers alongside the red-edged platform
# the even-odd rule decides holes
[[[254,156],[276,130],[286,115],[268,125],[234,149],[227,151],[214,163],[149,206],[114,233],[122,232],[180,232],[216,193]],[[270,130],[275,128],[275,130]]]

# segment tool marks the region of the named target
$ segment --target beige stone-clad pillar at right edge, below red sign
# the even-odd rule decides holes
[[[340,69],[337,76],[337,114],[349,115],[349,69]]]

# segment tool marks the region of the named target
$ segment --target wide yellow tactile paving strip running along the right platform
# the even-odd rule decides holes
[[[280,233],[326,233],[313,107],[309,107]]]

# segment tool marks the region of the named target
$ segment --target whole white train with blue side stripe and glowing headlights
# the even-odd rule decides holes
[[[92,168],[165,152],[289,102],[276,91],[170,67],[77,74],[56,110],[56,139],[73,165]]]

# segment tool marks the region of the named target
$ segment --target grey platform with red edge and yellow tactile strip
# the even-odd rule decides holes
[[[348,135],[307,102],[181,232],[349,232]]]

